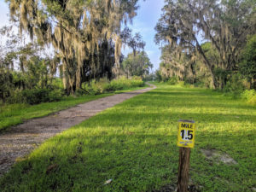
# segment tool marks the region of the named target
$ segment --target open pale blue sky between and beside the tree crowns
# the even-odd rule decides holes
[[[154,64],[154,70],[158,69],[160,64],[160,49],[154,44],[154,26],[160,19],[161,9],[165,0],[139,0],[140,8],[137,10],[137,16],[133,19],[132,25],[129,24],[133,34],[140,32],[143,41],[146,42],[145,51],[150,61]],[[0,0],[0,27],[9,24],[9,8],[4,0]],[[122,50],[124,55],[131,52],[127,47]]]

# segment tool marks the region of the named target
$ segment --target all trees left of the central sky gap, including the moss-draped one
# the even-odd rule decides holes
[[[92,79],[113,79],[126,75],[128,65],[121,54],[123,45],[133,56],[143,55],[138,73],[148,73],[148,56],[142,36],[134,36],[127,23],[137,15],[138,0],[7,0],[10,20],[17,25],[20,37],[11,35],[11,27],[3,27],[8,40],[1,46],[1,99],[11,90],[48,88],[60,73],[67,95],[82,89]],[[28,35],[31,42],[24,37]],[[43,54],[53,48],[51,55]],[[141,54],[143,53],[143,54]],[[16,63],[16,67],[15,64]],[[146,67],[144,67],[146,66]],[[22,77],[21,77],[22,76]]]

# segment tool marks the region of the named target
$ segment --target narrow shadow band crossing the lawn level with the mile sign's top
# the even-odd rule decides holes
[[[170,123],[177,123],[179,119],[193,119],[197,123],[201,124],[209,124],[209,123],[241,123],[241,122],[249,122],[256,123],[255,115],[242,115],[240,113],[172,113],[172,111],[168,113],[119,113],[117,116],[114,113],[102,114],[99,116],[101,119],[112,119],[110,125],[124,125],[120,121],[125,121],[125,125],[148,125],[149,123],[154,122],[154,126],[156,127],[162,124],[163,121],[169,119]],[[142,121],[143,119],[143,121]],[[97,125],[97,124],[96,124]],[[108,125],[108,121],[101,122],[101,125]],[[176,125],[175,125],[176,126]],[[147,127],[147,126],[145,126]],[[175,127],[176,128],[176,127]]]

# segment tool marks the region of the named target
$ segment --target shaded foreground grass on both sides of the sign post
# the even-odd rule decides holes
[[[237,138],[232,140],[236,141]],[[211,136],[206,139],[211,141]],[[214,137],[215,143],[223,139],[223,136]],[[191,175],[195,183],[203,185],[206,190],[229,191],[234,186],[243,189],[239,188],[239,183],[251,176],[249,170],[255,166],[227,166],[209,162],[199,149],[207,148],[207,144],[201,143],[192,150]],[[230,146],[231,143],[227,147]],[[237,153],[230,154],[240,163],[247,154]],[[160,189],[166,183],[176,183],[177,161],[176,135],[141,134],[122,131],[119,127],[97,132],[92,127],[86,127],[86,130],[76,127],[49,139],[28,159],[15,165],[6,177],[0,179],[0,189],[150,191]],[[236,180],[232,177],[236,177]],[[222,181],[219,182],[218,178]],[[112,179],[112,183],[104,185],[108,179]],[[233,183],[233,187],[227,185],[226,181]]]

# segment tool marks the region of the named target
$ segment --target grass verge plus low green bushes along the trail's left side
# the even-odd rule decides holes
[[[59,84],[61,82],[55,82]],[[142,89],[145,86],[142,79],[133,77],[126,79],[121,77],[113,81],[101,79],[84,84],[84,89],[77,91],[74,96],[64,96],[61,89],[33,89],[22,90],[9,97],[9,103],[0,103],[0,131],[11,126],[22,123],[26,119],[38,118],[49,113],[54,113],[69,108],[81,102],[89,102],[97,98],[113,95],[120,90],[130,91]],[[40,103],[44,102],[44,103]],[[38,104],[40,103],[40,104]]]

